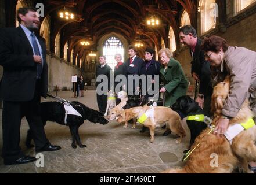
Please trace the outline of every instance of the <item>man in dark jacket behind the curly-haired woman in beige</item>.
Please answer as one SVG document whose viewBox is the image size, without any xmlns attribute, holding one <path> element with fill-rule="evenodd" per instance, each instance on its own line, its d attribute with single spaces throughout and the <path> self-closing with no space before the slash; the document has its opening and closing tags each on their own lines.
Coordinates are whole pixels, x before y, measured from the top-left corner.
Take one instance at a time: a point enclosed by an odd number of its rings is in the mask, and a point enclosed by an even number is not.
<svg viewBox="0 0 256 185">
<path fill-rule="evenodd" d="M 210 62 L 205 61 L 204 51 L 200 49 L 202 41 L 197 38 L 196 29 L 191 25 L 185 25 L 179 29 L 179 40 L 190 48 L 192 57 L 191 73 L 194 80 L 200 81 L 199 94 L 195 97 L 196 102 L 209 116 L 212 94 L 211 69 Z"/>
</svg>

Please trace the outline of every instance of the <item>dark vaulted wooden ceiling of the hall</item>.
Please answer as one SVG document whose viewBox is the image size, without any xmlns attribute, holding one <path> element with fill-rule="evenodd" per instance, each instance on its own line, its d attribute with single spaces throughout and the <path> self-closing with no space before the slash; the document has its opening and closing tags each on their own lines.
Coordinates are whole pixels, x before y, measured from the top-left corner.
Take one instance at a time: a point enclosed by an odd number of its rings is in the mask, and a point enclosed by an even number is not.
<svg viewBox="0 0 256 185">
<path fill-rule="evenodd" d="M 26 1 L 26 0 L 21 0 Z M 16 0 L 17 2 L 17 0 Z M 110 32 L 121 34 L 131 44 L 141 40 L 146 46 L 156 46 L 160 49 L 161 38 L 168 47 L 168 32 L 170 26 L 174 29 L 176 40 L 180 18 L 183 10 L 189 14 L 190 21 L 196 27 L 196 0 L 27 0 L 31 4 L 43 3 L 45 16 L 51 17 L 51 46 L 55 51 L 55 38 L 60 32 L 61 52 L 68 42 L 69 53 L 74 49 L 75 54 L 86 56 L 91 50 L 96 51 L 98 41 Z M 10 5 L 12 3 L 10 2 Z M 74 20 L 61 20 L 59 11 L 63 8 L 75 14 Z M 161 25 L 151 28 L 146 25 L 146 18 L 154 14 L 161 20 Z M 89 47 L 82 47 L 81 39 L 89 40 Z M 81 58 L 80 57 L 80 58 Z"/>
</svg>

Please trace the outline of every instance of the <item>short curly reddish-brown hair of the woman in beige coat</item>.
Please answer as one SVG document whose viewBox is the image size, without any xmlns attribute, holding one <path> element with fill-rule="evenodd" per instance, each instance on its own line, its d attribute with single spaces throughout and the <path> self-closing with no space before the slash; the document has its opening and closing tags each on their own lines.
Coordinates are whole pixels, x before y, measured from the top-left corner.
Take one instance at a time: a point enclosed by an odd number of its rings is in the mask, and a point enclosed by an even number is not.
<svg viewBox="0 0 256 185">
<path fill-rule="evenodd" d="M 204 38 L 203 43 L 201 44 L 201 49 L 204 52 L 213 51 L 217 53 L 219 50 L 226 52 L 228 50 L 228 43 L 225 39 L 220 36 L 210 36 L 209 38 Z"/>
</svg>

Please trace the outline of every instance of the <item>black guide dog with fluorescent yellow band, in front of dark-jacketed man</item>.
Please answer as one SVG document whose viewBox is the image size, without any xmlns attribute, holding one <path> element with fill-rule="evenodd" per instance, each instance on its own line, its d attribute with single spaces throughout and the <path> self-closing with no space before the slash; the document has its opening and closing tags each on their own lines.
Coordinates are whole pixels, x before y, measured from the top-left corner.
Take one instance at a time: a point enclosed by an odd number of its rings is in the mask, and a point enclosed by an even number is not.
<svg viewBox="0 0 256 185">
<path fill-rule="evenodd" d="M 195 102 L 188 95 L 179 97 L 176 103 L 171 106 L 171 109 L 178 112 L 179 116 L 181 116 L 181 119 L 187 116 L 204 114 L 204 111 L 200 108 L 198 103 Z M 196 137 L 201 133 L 201 131 L 207 128 L 207 124 L 201 121 L 186 120 L 186 123 L 188 124 L 190 130 L 190 143 L 189 148 L 187 150 L 184 150 L 183 153 L 187 153 L 190 150 L 190 147 L 193 145 Z"/>
</svg>

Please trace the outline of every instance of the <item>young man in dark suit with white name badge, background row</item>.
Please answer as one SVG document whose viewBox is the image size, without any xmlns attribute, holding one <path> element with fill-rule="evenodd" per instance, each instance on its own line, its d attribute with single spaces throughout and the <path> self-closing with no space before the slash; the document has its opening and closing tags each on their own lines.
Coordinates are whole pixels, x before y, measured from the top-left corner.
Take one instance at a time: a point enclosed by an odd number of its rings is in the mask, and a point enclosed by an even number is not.
<svg viewBox="0 0 256 185">
<path fill-rule="evenodd" d="M 138 92 L 139 87 L 135 87 L 135 80 L 133 80 L 134 86 L 129 87 L 129 82 L 131 83 L 133 75 L 140 75 L 140 70 L 143 64 L 142 58 L 136 56 L 137 50 L 134 46 L 128 47 L 129 58 L 125 61 L 125 76 L 127 77 L 127 92 L 128 95 L 135 94 Z"/>
</svg>

